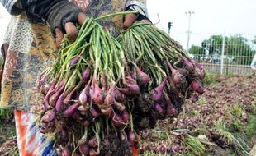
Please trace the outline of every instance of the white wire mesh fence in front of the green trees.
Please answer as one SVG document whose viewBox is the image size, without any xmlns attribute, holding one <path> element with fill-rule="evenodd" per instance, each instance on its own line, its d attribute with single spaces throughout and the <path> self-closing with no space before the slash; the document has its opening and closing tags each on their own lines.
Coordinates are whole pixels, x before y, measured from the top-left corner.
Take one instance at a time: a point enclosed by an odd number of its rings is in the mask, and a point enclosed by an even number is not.
<svg viewBox="0 0 256 156">
<path fill-rule="evenodd" d="M 193 39 L 197 35 L 192 34 Z M 250 74 L 252 59 L 256 54 L 256 35 L 210 34 L 201 43 L 191 42 L 188 53 L 200 62 L 206 71 L 217 74 Z"/>
</svg>

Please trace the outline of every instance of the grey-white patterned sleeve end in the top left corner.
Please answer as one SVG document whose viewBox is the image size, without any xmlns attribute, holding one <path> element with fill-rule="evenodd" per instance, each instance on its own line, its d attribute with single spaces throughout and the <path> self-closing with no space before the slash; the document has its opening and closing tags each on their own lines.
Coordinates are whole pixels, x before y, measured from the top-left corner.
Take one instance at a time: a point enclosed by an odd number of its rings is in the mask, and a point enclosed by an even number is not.
<svg viewBox="0 0 256 156">
<path fill-rule="evenodd" d="M 22 5 L 20 0 L 0 0 L 0 2 L 11 15 L 21 14 Z"/>
</svg>

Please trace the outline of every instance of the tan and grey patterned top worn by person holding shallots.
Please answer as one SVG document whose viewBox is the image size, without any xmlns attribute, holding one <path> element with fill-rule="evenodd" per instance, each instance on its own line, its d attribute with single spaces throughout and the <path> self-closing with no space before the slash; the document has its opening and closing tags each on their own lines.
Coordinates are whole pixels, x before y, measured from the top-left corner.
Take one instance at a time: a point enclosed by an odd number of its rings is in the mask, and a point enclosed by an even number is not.
<svg viewBox="0 0 256 156">
<path fill-rule="evenodd" d="M 36 2 L 39 0 L 28 0 Z M 45 0 L 48 1 L 48 0 Z M 146 0 L 71 0 L 85 11 L 87 16 L 97 17 L 107 13 L 125 11 L 137 5 L 145 11 Z M 56 50 L 50 26 L 40 18 L 22 11 L 20 0 L 0 0 L 12 15 L 1 51 L 4 64 L 0 72 L 0 108 L 12 108 L 27 112 L 40 112 L 42 97 L 36 89 L 40 71 L 50 65 Z M 26 2 L 26 1 L 25 1 Z M 111 34 L 119 34 L 123 16 L 101 21 Z"/>
</svg>

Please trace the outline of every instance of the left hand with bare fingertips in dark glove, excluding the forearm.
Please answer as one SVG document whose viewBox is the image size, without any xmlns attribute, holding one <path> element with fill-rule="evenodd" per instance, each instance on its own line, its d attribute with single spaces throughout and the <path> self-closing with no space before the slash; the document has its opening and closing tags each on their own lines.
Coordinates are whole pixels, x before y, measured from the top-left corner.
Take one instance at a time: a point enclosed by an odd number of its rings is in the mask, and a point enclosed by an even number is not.
<svg viewBox="0 0 256 156">
<path fill-rule="evenodd" d="M 42 9 L 42 13 L 39 16 L 42 16 L 50 25 L 50 30 L 56 37 L 56 46 L 59 48 L 64 34 L 68 34 L 71 41 L 77 38 L 78 30 L 76 25 L 83 25 L 86 16 L 72 2 L 66 0 L 48 1 L 45 1 L 44 4 L 38 4 L 37 9 L 40 10 L 41 6 L 50 5 L 50 7 Z"/>
</svg>

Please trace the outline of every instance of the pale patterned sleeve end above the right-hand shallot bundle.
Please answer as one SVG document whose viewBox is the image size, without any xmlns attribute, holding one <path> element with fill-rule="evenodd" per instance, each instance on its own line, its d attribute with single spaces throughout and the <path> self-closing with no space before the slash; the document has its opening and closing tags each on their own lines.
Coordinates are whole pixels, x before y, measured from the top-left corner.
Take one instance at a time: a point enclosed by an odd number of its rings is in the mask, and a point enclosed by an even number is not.
<svg viewBox="0 0 256 156">
<path fill-rule="evenodd" d="M 126 8 L 129 7 L 131 10 L 139 11 L 141 15 L 149 17 L 146 2 L 146 0 L 126 0 Z"/>
</svg>

